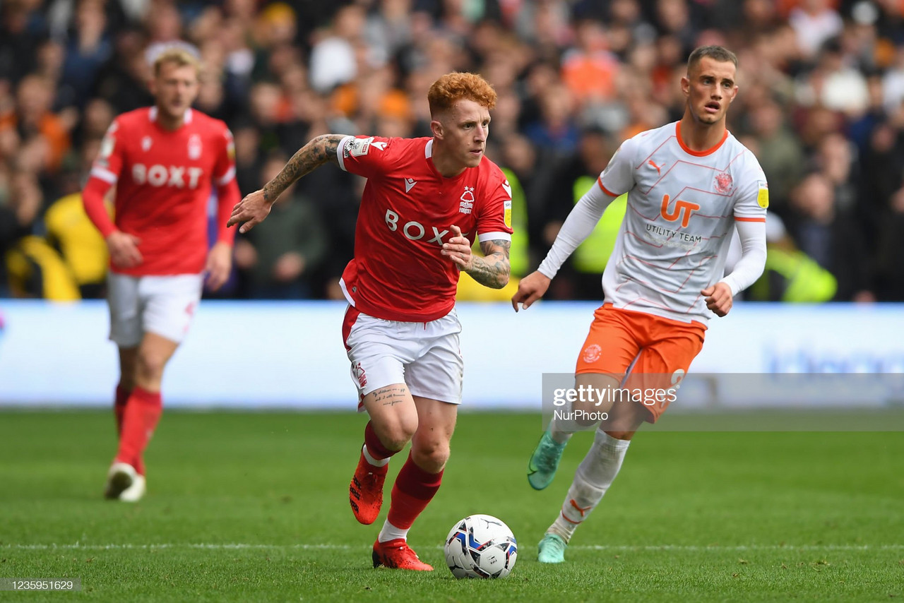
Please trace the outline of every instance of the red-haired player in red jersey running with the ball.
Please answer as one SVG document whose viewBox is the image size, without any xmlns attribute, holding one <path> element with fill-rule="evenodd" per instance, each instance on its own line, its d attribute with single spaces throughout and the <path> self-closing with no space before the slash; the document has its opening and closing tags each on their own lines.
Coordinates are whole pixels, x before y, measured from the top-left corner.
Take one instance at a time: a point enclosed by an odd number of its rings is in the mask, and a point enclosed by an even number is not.
<svg viewBox="0 0 904 603">
<path fill-rule="evenodd" d="M 439 488 L 461 401 L 458 275 L 486 287 L 508 283 L 512 193 L 484 156 L 495 100 L 481 77 L 447 74 L 428 91 L 433 137 L 316 137 L 229 221 L 253 228 L 289 184 L 327 162 L 367 178 L 341 282 L 345 349 L 371 417 L 349 485 L 359 522 L 376 520 L 390 457 L 411 441 L 373 544 L 374 567 L 433 569 L 406 541 Z M 471 254 L 475 236 L 484 257 Z"/>
</svg>

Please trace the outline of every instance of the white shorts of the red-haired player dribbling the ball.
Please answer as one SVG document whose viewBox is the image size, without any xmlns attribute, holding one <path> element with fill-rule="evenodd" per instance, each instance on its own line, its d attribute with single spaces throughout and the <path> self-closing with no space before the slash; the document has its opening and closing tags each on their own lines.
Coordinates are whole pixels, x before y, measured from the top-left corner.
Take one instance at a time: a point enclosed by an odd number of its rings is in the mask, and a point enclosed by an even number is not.
<svg viewBox="0 0 904 603">
<path fill-rule="evenodd" d="M 343 339 L 360 398 L 405 383 L 412 396 L 460 404 L 465 361 L 459 333 L 454 308 L 428 323 L 408 323 L 368 316 L 349 306 Z M 363 410 L 361 405 L 358 410 Z"/>
</svg>

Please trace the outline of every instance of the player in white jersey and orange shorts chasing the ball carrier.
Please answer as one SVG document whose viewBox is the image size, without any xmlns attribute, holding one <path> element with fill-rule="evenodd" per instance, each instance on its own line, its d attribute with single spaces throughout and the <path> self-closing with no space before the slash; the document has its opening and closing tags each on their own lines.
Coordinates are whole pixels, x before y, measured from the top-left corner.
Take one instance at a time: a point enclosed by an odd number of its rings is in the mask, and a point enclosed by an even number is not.
<svg viewBox="0 0 904 603">
<path fill-rule="evenodd" d="M 583 410 L 608 411 L 575 472 L 560 513 L 540 542 L 541 562 L 564 561 L 578 525 L 615 479 L 628 444 L 644 421 L 655 422 L 667 392 L 700 353 L 711 313 L 725 316 L 766 262 L 766 176 L 756 157 L 725 127 L 738 93 L 738 59 L 720 46 L 692 52 L 682 78 L 681 121 L 626 140 L 594 186 L 570 212 L 540 268 L 523 278 L 515 311 L 539 299 L 572 251 L 619 194 L 627 212 L 603 272 L 605 301 L 580 351 L 575 384 L 597 391 L 659 390 L 649 398 L 598 396 Z M 721 278 L 731 231 L 741 258 Z M 590 400 L 589 400 L 590 401 Z M 537 490 L 549 485 L 578 424 L 553 419 L 528 465 Z"/>
</svg>

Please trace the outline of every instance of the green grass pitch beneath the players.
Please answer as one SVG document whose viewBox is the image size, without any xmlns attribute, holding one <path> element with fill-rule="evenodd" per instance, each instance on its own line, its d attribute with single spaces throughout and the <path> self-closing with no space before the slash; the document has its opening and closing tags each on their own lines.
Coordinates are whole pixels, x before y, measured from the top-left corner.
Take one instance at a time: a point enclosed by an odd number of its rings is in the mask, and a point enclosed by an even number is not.
<svg viewBox="0 0 904 603">
<path fill-rule="evenodd" d="M 543 492 L 527 484 L 537 415 L 462 414 L 443 486 L 410 533 L 433 572 L 373 570 L 385 518 L 356 523 L 353 413 L 166 412 L 139 504 L 101 498 L 111 414 L 0 413 L 0 578 L 80 578 L 80 593 L 0 600 L 887 601 L 904 597 L 900 432 L 642 431 L 568 562 L 536 545 L 590 434 Z M 402 455 L 402 457 L 404 454 Z M 401 466 L 392 462 L 391 477 Z M 389 497 L 389 487 L 386 491 Z M 457 580 L 452 524 L 512 528 L 503 580 Z"/>
</svg>

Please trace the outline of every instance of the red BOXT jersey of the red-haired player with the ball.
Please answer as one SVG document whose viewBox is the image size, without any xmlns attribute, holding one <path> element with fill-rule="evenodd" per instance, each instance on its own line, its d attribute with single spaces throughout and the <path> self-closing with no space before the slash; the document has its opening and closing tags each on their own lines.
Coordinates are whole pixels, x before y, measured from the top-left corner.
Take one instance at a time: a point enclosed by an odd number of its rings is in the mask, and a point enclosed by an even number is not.
<svg viewBox="0 0 904 603">
<path fill-rule="evenodd" d="M 427 322 L 455 306 L 458 268 L 442 255 L 451 226 L 473 241 L 512 240 L 512 192 L 503 171 L 480 165 L 445 178 L 432 138 L 344 137 L 345 171 L 367 178 L 354 259 L 340 285 L 352 306 L 384 320 Z"/>
</svg>

